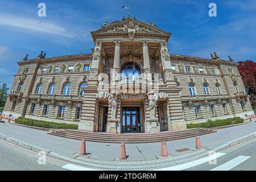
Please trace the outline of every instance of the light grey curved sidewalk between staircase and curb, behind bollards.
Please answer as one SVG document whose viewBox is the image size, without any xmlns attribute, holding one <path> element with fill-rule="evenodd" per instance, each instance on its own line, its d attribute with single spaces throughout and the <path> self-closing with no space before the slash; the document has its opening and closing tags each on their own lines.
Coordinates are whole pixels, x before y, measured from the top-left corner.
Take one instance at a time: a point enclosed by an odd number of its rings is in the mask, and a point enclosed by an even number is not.
<svg viewBox="0 0 256 182">
<path fill-rule="evenodd" d="M 204 150 L 197 153 L 212 150 L 222 144 L 243 137 L 256 131 L 256 123 L 251 122 L 246 125 L 229 127 L 218 130 L 217 133 L 200 136 Z M 36 146 L 47 148 L 52 152 L 66 156 L 72 159 L 86 160 L 79 156 L 79 140 L 67 139 L 48 135 L 46 131 L 30 129 L 27 127 L 11 125 L 9 123 L 0 123 L 0 134 L 13 137 L 23 142 L 27 142 Z M 86 158 L 92 161 L 106 160 L 117 161 L 119 155 L 120 144 L 94 143 L 86 142 Z M 168 152 L 170 156 L 178 158 L 179 156 L 188 156 L 195 153 L 195 138 L 187 138 L 181 140 L 173 140 L 167 142 Z M 186 148 L 187 151 L 177 152 Z M 126 161 L 144 161 L 160 159 L 160 143 L 142 143 L 142 144 L 126 144 L 126 154 L 129 158 Z"/>
</svg>

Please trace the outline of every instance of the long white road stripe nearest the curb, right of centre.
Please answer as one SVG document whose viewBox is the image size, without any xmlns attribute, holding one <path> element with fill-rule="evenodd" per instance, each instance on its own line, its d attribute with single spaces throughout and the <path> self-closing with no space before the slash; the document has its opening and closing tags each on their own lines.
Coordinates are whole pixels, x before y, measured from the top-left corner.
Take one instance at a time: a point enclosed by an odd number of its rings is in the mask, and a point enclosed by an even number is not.
<svg viewBox="0 0 256 182">
<path fill-rule="evenodd" d="M 188 162 L 188 163 L 184 163 L 184 164 L 179 164 L 177 166 L 171 166 L 171 167 L 156 169 L 155 171 L 181 171 L 181 170 L 184 170 L 184 169 L 188 169 L 188 168 L 191 168 L 191 167 L 198 166 L 200 164 L 204 164 L 204 163 L 210 162 L 210 161 L 212 161 L 214 159 L 217 159 L 217 158 L 220 158 L 221 156 L 224 156 L 224 155 L 226 155 L 226 154 L 225 153 L 221 153 L 221 152 L 217 152 L 214 155 L 209 155 L 209 156 L 207 156 L 205 158 L 197 159 L 197 160 L 194 160 L 192 162 Z"/>
</svg>

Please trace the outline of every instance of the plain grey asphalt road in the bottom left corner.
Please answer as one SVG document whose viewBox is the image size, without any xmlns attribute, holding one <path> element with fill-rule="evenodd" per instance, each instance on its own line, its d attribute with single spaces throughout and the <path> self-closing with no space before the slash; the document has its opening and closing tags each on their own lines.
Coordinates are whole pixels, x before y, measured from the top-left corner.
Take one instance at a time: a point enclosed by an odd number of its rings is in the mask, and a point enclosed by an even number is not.
<svg viewBox="0 0 256 182">
<path fill-rule="evenodd" d="M 0 139 L 0 170 L 1 171 L 60 171 L 67 163 L 46 158 L 46 164 L 39 165 L 38 156 Z"/>
</svg>

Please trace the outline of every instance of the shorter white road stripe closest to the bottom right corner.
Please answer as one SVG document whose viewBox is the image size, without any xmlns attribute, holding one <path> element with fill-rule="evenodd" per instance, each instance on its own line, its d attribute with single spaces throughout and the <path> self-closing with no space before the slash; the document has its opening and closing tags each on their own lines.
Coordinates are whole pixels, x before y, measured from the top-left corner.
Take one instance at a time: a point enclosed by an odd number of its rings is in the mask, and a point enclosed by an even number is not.
<svg viewBox="0 0 256 182">
<path fill-rule="evenodd" d="M 229 160 L 229 162 L 226 162 L 216 168 L 211 169 L 210 171 L 229 171 L 230 169 L 233 169 L 234 167 L 238 166 L 239 164 L 245 162 L 249 158 L 251 158 L 251 157 L 240 155 L 232 160 Z"/>
</svg>

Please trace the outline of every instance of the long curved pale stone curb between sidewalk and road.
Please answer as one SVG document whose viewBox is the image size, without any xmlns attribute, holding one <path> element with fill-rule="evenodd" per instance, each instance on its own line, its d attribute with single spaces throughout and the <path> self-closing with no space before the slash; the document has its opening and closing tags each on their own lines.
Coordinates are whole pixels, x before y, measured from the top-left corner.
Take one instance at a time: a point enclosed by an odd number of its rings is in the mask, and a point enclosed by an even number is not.
<svg viewBox="0 0 256 182">
<path fill-rule="evenodd" d="M 229 142 L 226 142 L 225 144 L 223 144 L 222 146 L 219 146 L 219 147 L 216 147 L 213 149 L 213 151 L 215 152 L 218 152 L 218 151 L 221 151 L 221 150 L 224 150 L 226 148 L 229 148 L 229 147 L 232 147 L 232 146 L 235 146 L 236 144 L 240 144 L 240 143 L 243 143 L 243 142 L 246 142 L 247 140 L 250 140 L 250 139 L 253 139 L 253 138 L 256 138 L 256 132 L 255 133 L 251 133 L 249 135 L 245 135 L 241 138 L 237 138 L 237 139 L 234 139 L 234 140 L 231 140 Z M 129 164 L 129 162 L 122 162 L 122 164 L 124 164 L 122 166 L 118 166 L 118 165 L 114 165 L 114 164 L 106 164 L 104 163 L 105 161 L 101 161 L 101 163 L 97 163 L 98 160 L 95 160 L 94 162 L 91 161 L 91 162 L 83 162 L 83 161 L 80 161 L 80 160 L 76 160 L 76 159 L 72 159 L 72 158 L 68 158 L 68 157 L 65 157 L 63 155 L 60 155 L 60 154 L 56 154 L 55 152 L 52 152 L 51 150 L 48 150 L 47 148 L 43 148 L 43 147 L 39 147 L 39 146 L 35 146 L 35 145 L 32 145 L 30 143 L 27 143 L 27 142 L 23 142 L 21 140 L 18 140 L 18 139 L 15 139 L 15 138 L 12 138 L 12 137 L 8 137 L 7 135 L 3 135 L 0 133 L 0 139 L 2 140 L 5 140 L 6 142 L 9 142 L 9 143 L 12 143 L 12 144 L 15 144 L 16 146 L 19 146 L 19 147 L 22 147 L 26 150 L 30 150 L 30 151 L 33 151 L 33 152 L 40 152 L 40 151 L 44 151 L 46 152 L 46 155 L 50 158 L 53 158 L 53 159 L 57 159 L 57 160 L 62 160 L 64 162 L 69 162 L 69 163 L 73 163 L 73 164 L 80 164 L 82 166 L 85 166 L 85 167 L 89 167 L 89 168 L 93 168 L 93 169 L 104 169 L 104 170 L 129 170 L 129 166 L 126 166 L 127 164 Z M 203 154 L 198 154 L 196 156 L 192 156 L 191 158 L 185 158 L 185 159 L 177 159 L 175 160 L 174 162 L 168 162 L 169 166 L 170 164 L 181 164 L 181 163 L 185 163 L 185 162 L 189 162 L 191 160 L 196 160 L 196 159 L 199 159 L 199 158 L 202 158 L 204 156 L 208 155 L 208 152 L 204 152 Z M 168 158 L 164 158 L 163 159 L 163 162 L 164 161 L 167 161 Z M 160 163 L 160 161 L 158 161 L 158 163 L 151 163 L 150 161 L 145 161 L 146 163 L 142 163 L 140 162 L 140 164 L 144 164 L 144 165 L 141 165 L 143 166 L 138 168 L 138 166 L 136 165 L 132 165 L 130 164 L 133 168 L 137 168 L 137 169 L 140 169 L 140 170 L 150 170 L 152 168 L 163 168 L 164 166 L 166 166 L 166 163 Z M 121 164 L 119 161 L 117 161 L 117 164 Z M 126 164 L 126 165 L 125 165 Z M 167 167 L 167 166 L 166 166 Z M 100 168 L 100 169 L 99 169 Z"/>
</svg>

